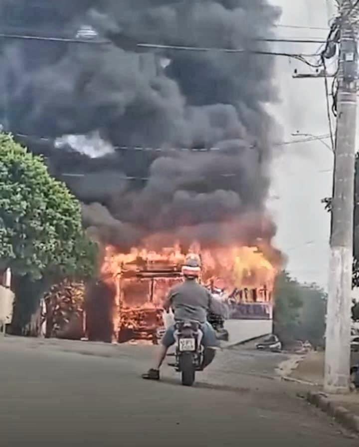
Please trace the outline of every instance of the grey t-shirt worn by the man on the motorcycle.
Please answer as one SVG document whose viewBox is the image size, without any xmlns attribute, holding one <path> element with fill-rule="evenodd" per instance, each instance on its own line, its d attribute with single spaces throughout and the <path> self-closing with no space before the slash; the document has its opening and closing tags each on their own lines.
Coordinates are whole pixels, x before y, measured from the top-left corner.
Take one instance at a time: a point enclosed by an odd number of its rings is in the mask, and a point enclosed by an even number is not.
<svg viewBox="0 0 359 447">
<path fill-rule="evenodd" d="M 222 309 L 211 293 L 196 280 L 186 279 L 182 284 L 176 285 L 169 292 L 168 297 L 174 310 L 175 320 L 194 320 L 204 323 L 207 312 L 222 314 Z"/>
</svg>

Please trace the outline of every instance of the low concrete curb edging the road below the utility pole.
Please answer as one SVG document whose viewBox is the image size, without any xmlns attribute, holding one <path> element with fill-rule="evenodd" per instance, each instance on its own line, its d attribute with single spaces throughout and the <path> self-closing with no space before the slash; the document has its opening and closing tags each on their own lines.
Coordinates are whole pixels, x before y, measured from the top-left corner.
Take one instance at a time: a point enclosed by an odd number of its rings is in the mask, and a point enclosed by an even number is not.
<svg viewBox="0 0 359 447">
<path fill-rule="evenodd" d="M 324 393 L 309 391 L 307 393 L 307 401 L 336 419 L 347 429 L 359 433 L 359 416 L 356 416 L 346 408 L 335 404 Z"/>
</svg>

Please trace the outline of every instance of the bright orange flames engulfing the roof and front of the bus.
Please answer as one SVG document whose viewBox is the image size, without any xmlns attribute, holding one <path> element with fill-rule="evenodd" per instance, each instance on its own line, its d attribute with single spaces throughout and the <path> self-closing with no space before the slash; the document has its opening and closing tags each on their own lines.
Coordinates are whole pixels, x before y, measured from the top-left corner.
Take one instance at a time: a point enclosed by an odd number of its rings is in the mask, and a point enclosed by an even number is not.
<svg viewBox="0 0 359 447">
<path fill-rule="evenodd" d="M 228 294 L 235 289 L 244 290 L 246 300 L 249 301 L 253 300 L 253 296 L 251 298 L 248 295 L 248 289 L 260 292 L 256 293 L 258 301 L 270 299 L 275 278 L 280 270 L 280 262 L 270 261 L 270 258 L 276 257 L 273 255 L 275 250 L 268 244 L 262 243 L 261 246 L 254 247 L 230 246 L 201 249 L 199 244 L 193 243 L 186 253 L 180 249 L 179 244 L 160 251 L 134 247 L 129 253 L 121 253 L 115 247 L 107 246 L 101 275 L 103 280 L 114 286 L 116 290 L 113 319 L 115 333 L 118 333 L 124 325 L 132 328 L 139 324 L 135 322 L 134 315 L 150 313 L 156 308 L 160 309 L 168 289 L 174 282 L 180 280 L 168 277 L 157 279 L 157 285 L 152 290 L 153 301 L 148 302 L 149 281 L 142 280 L 141 283 L 141 280 L 133 275 L 126 276 L 125 284 L 122 280 L 124 275 L 131 271 L 136 273 L 141 268 L 151 270 L 159 266 L 180 271 L 189 253 L 200 256 L 201 281 L 204 284 L 224 289 Z M 261 293 L 264 290 L 266 292 Z"/>
</svg>

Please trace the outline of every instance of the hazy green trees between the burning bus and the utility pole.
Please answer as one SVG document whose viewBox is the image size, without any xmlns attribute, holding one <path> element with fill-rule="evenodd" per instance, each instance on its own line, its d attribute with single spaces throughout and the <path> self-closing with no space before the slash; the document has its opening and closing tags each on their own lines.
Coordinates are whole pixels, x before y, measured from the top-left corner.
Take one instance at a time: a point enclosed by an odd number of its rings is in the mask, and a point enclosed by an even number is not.
<svg viewBox="0 0 359 447">
<path fill-rule="evenodd" d="M 315 284 L 303 285 L 287 272 L 275 289 L 274 331 L 284 343 L 309 340 L 318 345 L 325 332 L 326 294 Z"/>
</svg>

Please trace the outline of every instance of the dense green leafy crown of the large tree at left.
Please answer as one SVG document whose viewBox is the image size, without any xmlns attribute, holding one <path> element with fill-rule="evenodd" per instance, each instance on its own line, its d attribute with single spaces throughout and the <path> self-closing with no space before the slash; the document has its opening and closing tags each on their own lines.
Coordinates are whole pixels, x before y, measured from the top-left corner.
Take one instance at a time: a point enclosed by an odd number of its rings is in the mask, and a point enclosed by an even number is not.
<svg viewBox="0 0 359 447">
<path fill-rule="evenodd" d="M 0 134 L 0 193 L 0 268 L 31 280 L 93 274 L 97 247 L 79 202 L 8 134 Z"/>
</svg>

